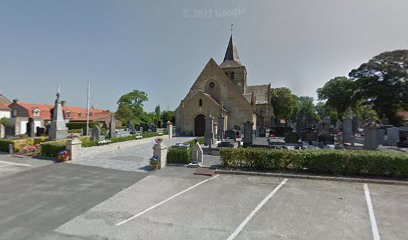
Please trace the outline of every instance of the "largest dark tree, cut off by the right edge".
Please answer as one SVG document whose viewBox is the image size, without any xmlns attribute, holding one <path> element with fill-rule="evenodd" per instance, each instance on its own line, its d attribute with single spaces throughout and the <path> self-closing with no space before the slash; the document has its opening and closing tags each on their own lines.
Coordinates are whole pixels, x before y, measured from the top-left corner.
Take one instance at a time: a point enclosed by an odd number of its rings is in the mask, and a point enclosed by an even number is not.
<svg viewBox="0 0 408 240">
<path fill-rule="evenodd" d="M 397 113 L 408 109 L 408 50 L 381 53 L 349 74 L 356 94 L 372 103 L 378 115 L 397 124 Z"/>
</svg>

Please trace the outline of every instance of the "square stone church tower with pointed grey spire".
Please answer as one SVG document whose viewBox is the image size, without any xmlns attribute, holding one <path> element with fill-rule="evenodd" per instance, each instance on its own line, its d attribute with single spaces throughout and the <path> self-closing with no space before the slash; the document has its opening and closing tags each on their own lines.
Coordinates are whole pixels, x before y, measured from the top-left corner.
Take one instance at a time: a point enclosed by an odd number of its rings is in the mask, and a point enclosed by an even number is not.
<svg viewBox="0 0 408 240">
<path fill-rule="evenodd" d="M 240 93 L 245 94 L 247 89 L 247 71 L 239 60 L 237 46 L 232 37 L 232 32 L 227 51 L 225 52 L 224 61 L 220 64 L 220 67 L 235 86 L 237 86 Z"/>
</svg>

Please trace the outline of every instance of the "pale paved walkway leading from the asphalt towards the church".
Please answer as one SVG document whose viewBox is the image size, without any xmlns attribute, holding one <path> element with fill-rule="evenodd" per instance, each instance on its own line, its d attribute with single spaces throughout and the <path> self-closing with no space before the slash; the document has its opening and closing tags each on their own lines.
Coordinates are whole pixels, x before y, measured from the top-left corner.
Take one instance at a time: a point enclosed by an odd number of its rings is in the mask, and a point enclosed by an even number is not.
<svg viewBox="0 0 408 240">
<path fill-rule="evenodd" d="M 164 140 L 163 144 L 171 146 L 183 143 L 194 137 L 175 137 Z M 146 172 L 151 171 L 149 159 L 153 156 L 153 139 L 151 143 L 144 143 L 132 148 L 118 149 L 109 153 L 102 153 L 72 161 L 73 164 L 103 167 L 124 171 Z"/>
</svg>

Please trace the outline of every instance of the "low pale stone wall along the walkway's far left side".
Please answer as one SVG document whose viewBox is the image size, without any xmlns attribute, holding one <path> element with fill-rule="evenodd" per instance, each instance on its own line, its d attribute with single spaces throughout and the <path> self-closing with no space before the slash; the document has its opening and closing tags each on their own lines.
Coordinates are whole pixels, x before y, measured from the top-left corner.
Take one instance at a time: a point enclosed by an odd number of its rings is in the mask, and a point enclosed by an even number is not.
<svg viewBox="0 0 408 240">
<path fill-rule="evenodd" d="M 163 137 L 164 139 L 167 139 L 168 135 L 164 135 L 161 137 Z M 88 148 L 81 147 L 81 148 L 76 149 L 76 152 L 72 154 L 72 160 L 75 161 L 76 159 L 79 159 L 79 158 L 89 157 L 89 156 L 101 154 L 101 153 L 112 152 L 115 150 L 134 147 L 134 146 L 145 144 L 145 143 L 152 143 L 152 147 L 153 147 L 154 138 L 156 137 L 142 138 L 142 139 L 131 140 L 131 141 L 126 141 L 126 142 L 111 143 L 111 144 L 100 145 L 100 146 L 95 146 L 95 147 L 88 147 Z"/>
</svg>

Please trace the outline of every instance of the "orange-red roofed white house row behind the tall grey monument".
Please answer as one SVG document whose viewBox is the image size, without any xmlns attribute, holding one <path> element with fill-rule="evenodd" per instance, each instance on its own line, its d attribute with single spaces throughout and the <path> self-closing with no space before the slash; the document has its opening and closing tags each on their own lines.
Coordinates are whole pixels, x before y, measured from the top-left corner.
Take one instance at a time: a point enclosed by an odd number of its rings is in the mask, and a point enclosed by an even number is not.
<svg viewBox="0 0 408 240">
<path fill-rule="evenodd" d="M 14 99 L 8 107 L 11 111 L 15 135 L 26 134 L 29 118 L 34 121 L 34 132 L 37 132 L 37 127 L 45 127 L 52 121 L 54 105 L 27 103 Z M 66 122 L 86 122 L 87 120 L 86 108 L 67 106 L 66 102 L 63 101 L 62 111 Z M 109 126 L 110 116 L 109 110 L 91 108 L 89 111 L 91 122 L 105 123 L 106 126 Z"/>
</svg>

